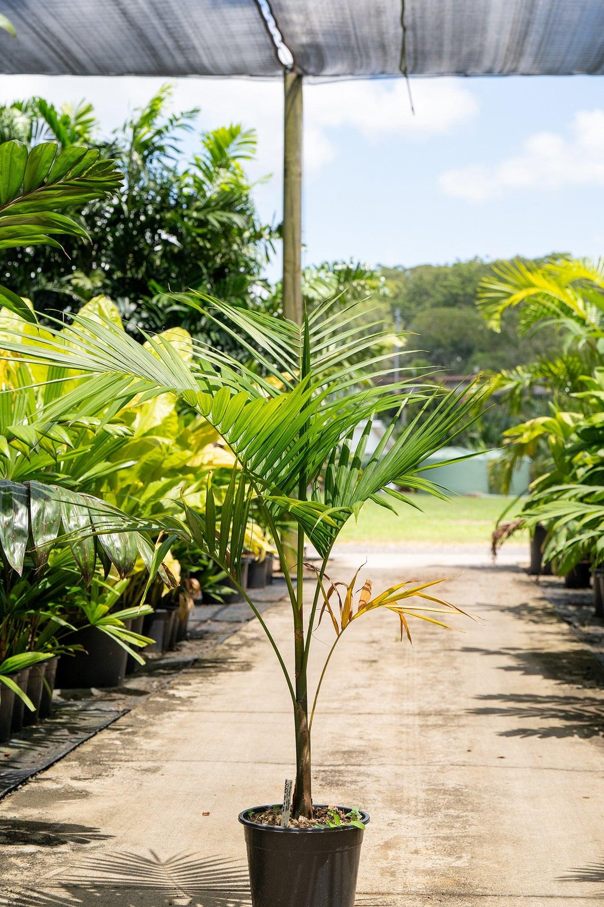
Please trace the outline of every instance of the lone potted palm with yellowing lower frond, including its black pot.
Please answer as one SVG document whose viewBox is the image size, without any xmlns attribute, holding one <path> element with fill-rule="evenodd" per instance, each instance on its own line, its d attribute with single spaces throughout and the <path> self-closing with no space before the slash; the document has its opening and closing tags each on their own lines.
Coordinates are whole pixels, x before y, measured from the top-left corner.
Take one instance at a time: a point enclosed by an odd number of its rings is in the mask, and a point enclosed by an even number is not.
<svg viewBox="0 0 604 907">
<path fill-rule="evenodd" d="M 254 907 L 351 907 L 369 816 L 346 806 L 328 809 L 312 799 L 312 719 L 331 655 L 350 625 L 374 610 L 396 615 L 401 639 L 410 639 L 409 619 L 446 626 L 447 614 L 463 612 L 433 594 L 435 582 L 401 582 L 376 595 L 369 580 L 356 590 L 359 571 L 349 582 L 331 581 L 328 561 L 343 525 L 365 502 L 396 511 L 396 504 L 411 503 L 400 488 L 444 496 L 422 463 L 472 421 L 476 396 L 463 398 L 417 379 L 398 380 L 390 374 L 390 338 L 378 323 L 368 324 L 358 309 L 338 300 L 307 313 L 302 327 L 197 293 L 178 295 L 177 301 L 197 307 L 236 335 L 250 366 L 199 341 L 190 359 L 178 356 L 161 337 L 148 337 L 143 347 L 109 320 L 87 317 L 76 318 L 61 336 L 57 325 L 49 332 L 54 338 L 43 344 L 20 336 L 5 346 L 32 362 L 89 373 L 45 408 L 41 418 L 46 423 L 91 399 L 95 405 L 116 406 L 116 398 L 127 405 L 137 394 L 149 399 L 170 392 L 197 409 L 233 453 L 235 465 L 219 496 L 210 475 L 203 507 L 193 509 L 183 500 L 182 519 L 158 522 L 195 544 L 232 580 L 264 629 L 292 700 L 291 813 L 277 804 L 247 808 L 239 816 Z M 405 424 L 399 415 L 418 400 L 424 405 Z M 379 416 L 386 420 L 386 431 L 366 456 Z M 293 523 L 297 529 L 296 564 L 292 575 L 284 574 L 292 611 L 292 664 L 242 582 L 250 512 L 262 514 L 282 563 L 287 559 L 279 527 Z M 309 595 L 303 562 L 307 541 L 321 559 L 313 568 Z M 319 688 L 311 691 L 312 629 L 321 616 L 331 621 L 334 639 Z"/>
</svg>

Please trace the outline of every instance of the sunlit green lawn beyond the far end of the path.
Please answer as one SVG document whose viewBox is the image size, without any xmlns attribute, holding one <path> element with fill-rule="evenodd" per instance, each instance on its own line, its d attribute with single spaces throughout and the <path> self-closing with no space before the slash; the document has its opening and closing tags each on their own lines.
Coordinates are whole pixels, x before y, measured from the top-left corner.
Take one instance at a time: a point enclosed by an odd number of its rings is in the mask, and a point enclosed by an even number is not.
<svg viewBox="0 0 604 907">
<path fill-rule="evenodd" d="M 348 544 L 398 545 L 488 543 L 494 524 L 503 509 L 513 500 L 504 497 L 454 497 L 439 501 L 428 494 L 410 494 L 421 507 L 419 512 L 407 504 L 395 502 L 398 515 L 384 510 L 369 501 L 360 512 L 359 522 L 351 518 L 340 535 Z M 393 500 L 393 499 L 389 499 Z M 510 511 L 505 520 L 511 520 L 522 501 Z M 513 541 L 523 541 L 523 533 L 516 533 Z"/>
</svg>

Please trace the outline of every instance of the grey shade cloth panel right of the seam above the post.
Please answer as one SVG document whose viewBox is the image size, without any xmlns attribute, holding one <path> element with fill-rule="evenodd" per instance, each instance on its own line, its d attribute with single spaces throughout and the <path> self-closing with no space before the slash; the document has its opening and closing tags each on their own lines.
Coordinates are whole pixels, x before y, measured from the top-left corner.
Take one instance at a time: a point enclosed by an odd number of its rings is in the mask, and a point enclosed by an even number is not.
<svg viewBox="0 0 604 907">
<path fill-rule="evenodd" d="M 602 0 L 272 0 L 303 73 L 604 71 Z"/>
</svg>

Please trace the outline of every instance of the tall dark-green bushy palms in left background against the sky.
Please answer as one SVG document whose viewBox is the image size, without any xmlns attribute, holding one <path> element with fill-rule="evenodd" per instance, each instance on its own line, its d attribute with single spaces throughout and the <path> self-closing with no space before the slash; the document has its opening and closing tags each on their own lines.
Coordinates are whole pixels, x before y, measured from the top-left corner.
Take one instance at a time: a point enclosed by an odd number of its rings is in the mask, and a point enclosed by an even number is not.
<svg viewBox="0 0 604 907">
<path fill-rule="evenodd" d="M 259 219 L 244 172 L 255 135 L 226 126 L 202 133 L 197 150 L 184 154 L 198 110 L 169 112 L 170 98 L 169 86 L 162 88 L 107 141 L 100 141 L 99 122 L 85 102 L 59 110 L 36 97 L 0 107 L 5 140 L 30 148 L 49 139 L 62 149 L 94 144 L 124 174 L 113 197 L 81 212 L 90 244 L 67 238 L 69 258 L 48 248 L 2 250 L 0 270 L 43 316 L 77 311 L 102 293 L 130 326 L 179 325 L 236 348 L 219 326 L 178 306 L 168 293 L 194 288 L 241 306 L 253 306 L 264 294 L 262 271 L 274 230 Z"/>
</svg>

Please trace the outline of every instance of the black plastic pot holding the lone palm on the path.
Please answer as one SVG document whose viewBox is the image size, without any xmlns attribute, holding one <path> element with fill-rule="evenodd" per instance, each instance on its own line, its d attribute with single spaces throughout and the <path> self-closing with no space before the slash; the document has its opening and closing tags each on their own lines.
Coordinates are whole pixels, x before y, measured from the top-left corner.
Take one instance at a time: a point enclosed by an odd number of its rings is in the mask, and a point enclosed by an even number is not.
<svg viewBox="0 0 604 907">
<path fill-rule="evenodd" d="M 280 828 L 248 818 L 267 808 L 256 806 L 239 814 L 253 907 L 353 907 L 362 829 L 356 825 Z M 369 815 L 360 815 L 363 824 L 368 824 Z"/>
</svg>

